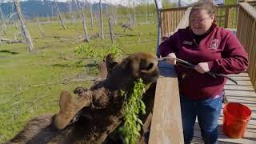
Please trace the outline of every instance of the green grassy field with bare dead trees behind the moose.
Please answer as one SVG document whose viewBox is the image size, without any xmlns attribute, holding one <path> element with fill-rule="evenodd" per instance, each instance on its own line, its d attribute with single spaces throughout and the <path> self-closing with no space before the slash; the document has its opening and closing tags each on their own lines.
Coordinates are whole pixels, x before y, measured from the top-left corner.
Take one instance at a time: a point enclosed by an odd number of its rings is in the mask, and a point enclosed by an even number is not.
<svg viewBox="0 0 256 144">
<path fill-rule="evenodd" d="M 139 25 L 126 32 L 120 25 L 122 21 L 119 21 L 119 25 L 114 26 L 118 37 L 115 44 L 128 54 L 136 51 L 154 53 L 157 40 L 155 18 L 152 17 L 150 23 L 143 23 L 144 21 L 143 18 L 138 18 Z M 46 34 L 44 38 L 39 34 L 37 23 L 28 23 L 27 27 L 34 41 L 34 52 L 30 53 L 26 44 L 0 45 L 0 142 L 17 134 L 28 119 L 39 114 L 56 113 L 61 90 L 72 91 L 77 86 L 88 87 L 92 82 L 88 78 L 98 74 L 95 65 L 87 65 L 89 62 L 77 63 L 78 56 L 74 50 L 79 45 L 86 44 L 76 40 L 83 34 L 80 23 L 66 23 L 67 30 L 62 30 L 58 22 L 42 24 L 42 30 Z M 104 26 L 104 30 L 104 40 L 90 40 L 90 46 L 94 50 L 106 49 L 112 45 L 109 27 Z M 7 34 L 2 34 L 3 38 L 14 38 L 19 29 L 10 25 L 6 32 Z M 96 32 L 96 29 L 90 29 L 90 34 Z"/>
</svg>

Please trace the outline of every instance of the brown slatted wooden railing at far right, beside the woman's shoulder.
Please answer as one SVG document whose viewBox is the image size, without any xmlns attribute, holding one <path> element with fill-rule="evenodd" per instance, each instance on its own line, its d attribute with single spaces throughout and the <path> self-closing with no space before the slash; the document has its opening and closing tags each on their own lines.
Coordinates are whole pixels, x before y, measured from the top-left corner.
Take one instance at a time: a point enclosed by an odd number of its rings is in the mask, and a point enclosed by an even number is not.
<svg viewBox="0 0 256 144">
<path fill-rule="evenodd" d="M 248 53 L 247 71 L 256 90 L 256 9 L 247 2 L 239 4 L 237 37 Z"/>
</svg>

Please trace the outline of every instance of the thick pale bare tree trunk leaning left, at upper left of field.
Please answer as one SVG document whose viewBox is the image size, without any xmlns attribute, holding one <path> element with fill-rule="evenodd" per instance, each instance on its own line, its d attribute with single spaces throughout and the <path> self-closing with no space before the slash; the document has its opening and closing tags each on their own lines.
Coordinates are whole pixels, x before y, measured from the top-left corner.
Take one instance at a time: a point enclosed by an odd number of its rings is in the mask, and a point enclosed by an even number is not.
<svg viewBox="0 0 256 144">
<path fill-rule="evenodd" d="M 19 0 L 14 0 L 14 5 L 15 5 L 15 8 L 16 8 L 16 12 L 18 14 L 18 18 L 20 20 L 20 24 L 21 24 L 21 27 L 22 27 L 22 32 L 23 32 L 23 34 L 26 38 L 26 42 L 29 46 L 29 50 L 33 51 L 34 50 L 34 45 L 33 45 L 32 39 L 30 38 L 29 31 L 26 29 L 25 21 L 23 20 L 23 17 L 22 17 L 22 10 L 19 7 Z"/>
</svg>

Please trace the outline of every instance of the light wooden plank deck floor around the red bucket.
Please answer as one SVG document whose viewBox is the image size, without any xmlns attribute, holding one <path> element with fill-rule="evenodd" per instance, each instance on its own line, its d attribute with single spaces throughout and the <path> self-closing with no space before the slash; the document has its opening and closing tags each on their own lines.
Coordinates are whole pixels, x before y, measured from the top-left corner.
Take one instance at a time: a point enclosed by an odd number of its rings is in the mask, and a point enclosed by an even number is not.
<svg viewBox="0 0 256 144">
<path fill-rule="evenodd" d="M 243 143 L 243 144 L 256 144 L 256 94 L 255 90 L 250 82 L 250 78 L 247 73 L 231 74 L 231 78 L 234 78 L 238 82 L 238 86 L 233 82 L 228 81 L 225 86 L 225 93 L 229 102 L 240 102 L 246 105 L 252 110 L 250 122 L 247 126 L 244 138 L 229 138 L 222 132 L 223 123 L 223 106 L 222 114 L 218 119 L 218 143 Z M 200 128 L 198 123 L 194 126 L 194 138 L 192 143 L 203 143 Z"/>
</svg>

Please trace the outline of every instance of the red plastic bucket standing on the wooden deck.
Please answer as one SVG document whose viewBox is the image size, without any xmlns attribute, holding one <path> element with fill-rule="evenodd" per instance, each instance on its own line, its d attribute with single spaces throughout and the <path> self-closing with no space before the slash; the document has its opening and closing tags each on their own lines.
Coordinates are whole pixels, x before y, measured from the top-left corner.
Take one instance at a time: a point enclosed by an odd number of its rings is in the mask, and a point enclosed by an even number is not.
<svg viewBox="0 0 256 144">
<path fill-rule="evenodd" d="M 242 138 L 250 120 L 251 110 L 240 103 L 230 102 L 224 106 L 223 132 L 230 138 Z"/>
</svg>

